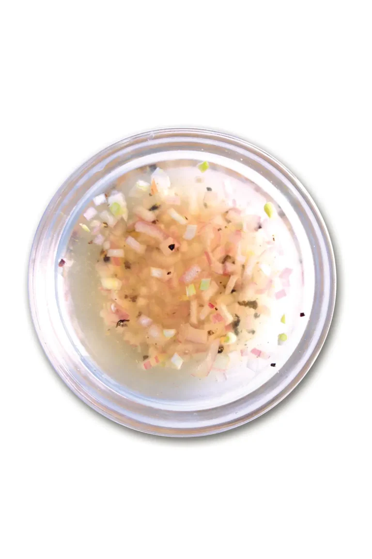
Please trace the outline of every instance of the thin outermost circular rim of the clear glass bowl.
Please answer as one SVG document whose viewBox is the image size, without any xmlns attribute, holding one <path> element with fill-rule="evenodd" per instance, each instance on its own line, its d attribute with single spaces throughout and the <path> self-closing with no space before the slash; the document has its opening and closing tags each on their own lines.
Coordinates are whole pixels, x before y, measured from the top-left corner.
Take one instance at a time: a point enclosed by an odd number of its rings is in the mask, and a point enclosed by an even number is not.
<svg viewBox="0 0 372 559">
<path fill-rule="evenodd" d="M 296 188 L 299 195 L 301 195 L 301 197 L 305 200 L 307 205 L 310 207 L 312 215 L 315 217 L 317 221 L 317 225 L 320 228 L 322 240 L 326 245 L 327 255 L 329 257 L 328 264 L 330 266 L 330 295 L 328 299 L 327 313 L 323 324 L 323 328 L 321 330 L 320 337 L 317 340 L 317 344 L 311 353 L 311 356 L 307 359 L 306 363 L 299 370 L 296 377 L 294 377 L 293 380 L 289 382 L 287 385 L 283 386 L 282 390 L 279 391 L 276 396 L 274 396 L 271 400 L 265 402 L 265 404 L 255 409 L 253 412 L 249 412 L 245 415 L 242 415 L 235 420 L 228 420 L 228 421 L 224 421 L 223 423 L 216 423 L 214 425 L 209 425 L 205 428 L 175 427 L 170 429 L 170 428 L 163 428 L 157 425 L 152 425 L 144 421 L 138 421 L 129 418 L 126 418 L 127 420 L 125 420 L 125 416 L 118 416 L 117 414 L 109 410 L 107 407 L 105 407 L 101 402 L 95 400 L 93 397 L 89 397 L 90 395 L 86 394 L 86 392 L 83 390 L 83 387 L 81 387 L 78 382 L 74 381 L 73 377 L 67 375 L 66 373 L 64 373 L 64 371 L 61 370 L 61 368 L 57 367 L 56 356 L 54 355 L 54 353 L 50 351 L 49 347 L 47 347 L 47 344 L 45 343 L 43 337 L 42 329 L 40 328 L 40 324 L 38 321 L 38 314 L 37 314 L 37 308 L 36 308 L 35 296 L 34 296 L 35 294 L 33 291 L 34 278 L 32 272 L 33 272 L 33 266 L 35 264 L 36 250 L 38 244 L 40 243 L 42 231 L 44 230 L 47 219 L 50 216 L 50 212 L 52 211 L 52 209 L 54 209 L 56 201 L 58 201 L 61 198 L 62 193 L 66 191 L 67 186 L 69 186 L 71 182 L 73 182 L 76 179 L 76 177 L 79 176 L 79 174 L 83 173 L 84 170 L 88 169 L 93 163 L 96 163 L 99 160 L 103 160 L 106 155 L 119 149 L 123 145 L 133 146 L 139 142 L 148 140 L 149 138 L 156 138 L 157 135 L 161 135 L 162 137 L 163 135 L 166 135 L 167 138 L 173 138 L 175 136 L 180 136 L 180 135 L 181 136 L 189 135 L 191 139 L 193 134 L 204 135 L 205 139 L 207 139 L 207 136 L 217 137 L 218 140 L 230 141 L 230 143 L 233 143 L 234 146 L 240 146 L 241 148 L 248 149 L 248 151 L 251 151 L 251 153 L 252 151 L 254 151 L 254 153 L 257 153 L 259 157 L 267 161 L 270 165 L 272 165 L 275 169 L 277 169 L 279 173 L 281 173 L 292 183 L 292 185 Z M 55 369 L 57 374 L 62 378 L 62 380 L 66 383 L 66 385 L 69 386 L 71 391 L 73 391 L 74 394 L 78 396 L 82 401 L 88 404 L 90 408 L 93 408 L 94 410 L 98 411 L 101 415 L 104 415 L 105 417 L 115 421 L 115 423 L 124 425 L 125 427 L 129 427 L 134 430 L 138 430 L 140 432 L 157 434 L 157 435 L 168 436 L 168 437 L 200 437 L 202 435 L 221 433 L 228 429 L 239 427 L 239 425 L 248 423 L 249 421 L 258 418 L 260 415 L 263 415 L 264 413 L 272 409 L 274 406 L 276 406 L 279 402 L 281 402 L 286 396 L 288 396 L 288 394 L 290 394 L 292 390 L 299 384 L 299 382 L 301 382 L 301 380 L 305 377 L 309 369 L 312 367 L 313 363 L 315 362 L 316 358 L 318 357 L 318 354 L 320 353 L 323 347 L 323 344 L 325 343 L 325 340 L 328 335 L 328 331 L 330 330 L 332 317 L 334 315 L 334 310 L 335 310 L 336 287 L 337 287 L 336 262 L 335 262 L 335 254 L 332 247 L 330 234 L 328 233 L 328 229 L 326 227 L 325 221 L 323 220 L 323 217 L 320 211 L 318 210 L 315 201 L 311 197 L 310 193 L 308 193 L 307 189 L 302 184 L 302 182 L 299 181 L 299 179 L 296 176 L 294 176 L 294 174 L 291 172 L 291 170 L 289 170 L 286 167 L 286 165 L 281 163 L 278 159 L 273 157 L 267 151 L 263 150 L 262 148 L 259 148 L 257 145 L 250 143 L 247 140 L 241 139 L 238 136 L 226 134 L 225 132 L 219 130 L 207 129 L 203 127 L 161 127 L 153 130 L 143 131 L 138 134 L 127 136 L 126 138 L 123 138 L 122 140 L 119 140 L 107 146 L 107 148 L 100 150 L 98 153 L 93 155 L 93 157 L 86 160 L 85 163 L 80 165 L 79 168 L 77 168 L 73 173 L 70 174 L 69 177 L 67 177 L 65 182 L 57 189 L 55 195 L 51 198 L 51 201 L 47 205 L 46 210 L 44 211 L 44 214 L 42 215 L 41 220 L 37 226 L 35 236 L 33 238 L 32 247 L 30 251 L 30 259 L 28 263 L 28 301 L 29 301 L 33 326 L 36 330 L 37 338 L 41 344 L 41 347 L 44 349 L 44 352 L 47 358 L 49 359 L 49 362 L 51 363 L 52 367 Z"/>
</svg>

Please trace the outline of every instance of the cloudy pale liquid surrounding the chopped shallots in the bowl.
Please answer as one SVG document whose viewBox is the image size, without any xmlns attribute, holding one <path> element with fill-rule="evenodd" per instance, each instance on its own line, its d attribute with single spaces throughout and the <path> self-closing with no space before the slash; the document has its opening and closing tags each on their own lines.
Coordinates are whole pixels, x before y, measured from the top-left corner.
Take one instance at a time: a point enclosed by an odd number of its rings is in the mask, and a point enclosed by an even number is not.
<svg viewBox="0 0 372 559">
<path fill-rule="evenodd" d="M 115 328 L 108 328 L 99 313 L 107 298 L 99 291 L 100 278 L 95 270 L 102 247 L 89 244 L 91 235 L 85 233 L 79 222 L 85 222 L 82 215 L 76 220 L 66 246 L 66 266 L 59 273 L 63 278 L 63 299 L 61 306 L 67 328 L 78 341 L 81 354 L 94 364 L 95 374 L 112 389 L 127 394 L 132 399 L 154 400 L 157 406 L 180 409 L 200 409 L 211 405 L 221 405 L 249 394 L 263 385 L 278 372 L 289 354 L 293 343 L 278 345 L 278 334 L 287 333 L 288 340 L 293 334 L 298 339 L 301 334 L 299 314 L 303 310 L 303 269 L 298 243 L 289 221 L 279 209 L 275 220 L 269 220 L 263 206 L 270 201 L 257 184 L 241 177 L 230 169 L 214 165 L 201 173 L 194 161 L 177 160 L 160 162 L 171 179 L 171 186 L 177 195 L 190 196 L 191 190 L 202 203 L 207 188 L 225 197 L 226 185 L 231 200 L 239 209 L 249 214 L 259 215 L 270 234 L 280 244 L 281 266 L 291 268 L 291 287 L 281 300 L 270 298 L 265 304 L 271 316 L 264 323 L 257 319 L 254 347 L 268 354 L 268 359 L 250 355 L 242 363 L 230 367 L 225 372 L 211 371 L 205 378 L 192 376 L 195 366 L 193 359 L 183 363 L 180 370 L 170 367 L 153 367 L 143 370 L 140 364 L 143 355 L 137 348 L 130 347 Z M 138 198 L 129 196 L 138 179 L 150 182 L 153 168 L 144 167 L 124 174 L 115 180 L 105 192 L 112 189 L 122 191 L 126 197 L 129 215 Z M 94 193 L 96 195 L 97 192 Z M 85 211 L 86 208 L 83 209 Z M 82 211 L 82 212 L 83 212 Z M 282 315 L 286 324 L 281 323 Z M 293 337 L 294 339 L 294 337 Z M 275 363 L 275 367 L 272 367 Z"/>
</svg>

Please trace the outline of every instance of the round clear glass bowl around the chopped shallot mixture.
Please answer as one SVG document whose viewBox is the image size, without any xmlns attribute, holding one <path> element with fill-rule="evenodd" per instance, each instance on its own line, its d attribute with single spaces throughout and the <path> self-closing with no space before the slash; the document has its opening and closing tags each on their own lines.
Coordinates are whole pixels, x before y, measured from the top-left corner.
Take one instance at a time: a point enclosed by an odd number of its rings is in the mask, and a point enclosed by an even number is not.
<svg viewBox="0 0 372 559">
<path fill-rule="evenodd" d="M 93 196 L 119 177 L 136 176 L 146 165 L 187 160 L 238 174 L 272 198 L 296 239 L 305 276 L 306 321 L 291 354 L 270 375 L 216 383 L 181 371 L 142 375 L 130 356 L 120 359 L 104 339 L 94 305 L 84 300 L 79 267 L 61 273 L 60 258 L 73 250 L 76 220 Z M 128 181 L 129 184 L 130 181 Z M 133 182 L 132 182 L 133 184 Z M 125 186 L 124 186 L 125 190 Z M 86 254 L 81 254 L 85 258 Z M 83 262 L 83 260 L 81 260 Z M 124 139 L 73 173 L 47 207 L 33 241 L 29 296 L 40 343 L 60 377 L 91 408 L 146 433 L 192 437 L 231 429 L 265 413 L 291 392 L 315 361 L 330 328 L 336 295 L 331 241 L 315 203 L 301 182 L 271 155 L 221 132 L 162 129 Z M 88 280 L 89 281 L 89 280 Z M 79 301 L 83 305 L 79 305 Z M 187 378 L 186 378 L 187 377 Z"/>
</svg>

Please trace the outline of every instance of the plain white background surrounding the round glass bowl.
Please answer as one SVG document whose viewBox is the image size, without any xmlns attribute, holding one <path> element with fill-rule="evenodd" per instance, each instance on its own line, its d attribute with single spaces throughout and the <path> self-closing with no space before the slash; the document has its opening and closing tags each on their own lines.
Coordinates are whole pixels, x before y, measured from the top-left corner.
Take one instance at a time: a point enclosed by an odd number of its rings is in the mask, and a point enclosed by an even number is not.
<svg viewBox="0 0 372 559">
<path fill-rule="evenodd" d="M 4 559 L 370 557 L 368 2 L 8 2 L 2 54 Z M 33 234 L 104 148 L 214 127 L 282 160 L 330 229 L 327 343 L 273 411 L 221 435 L 134 433 L 52 371 L 28 316 Z M 4 522 L 5 520 L 5 522 Z"/>
</svg>

